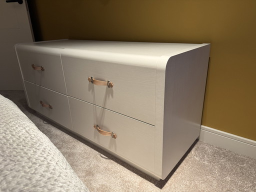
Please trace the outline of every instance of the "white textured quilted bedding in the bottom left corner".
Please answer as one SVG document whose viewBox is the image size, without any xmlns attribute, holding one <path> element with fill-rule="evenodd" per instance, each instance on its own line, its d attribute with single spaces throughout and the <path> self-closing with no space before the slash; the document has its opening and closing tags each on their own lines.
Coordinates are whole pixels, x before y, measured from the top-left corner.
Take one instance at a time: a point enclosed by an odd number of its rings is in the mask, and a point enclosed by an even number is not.
<svg viewBox="0 0 256 192">
<path fill-rule="evenodd" d="M 0 191 L 89 191 L 48 137 L 2 95 Z"/>
</svg>

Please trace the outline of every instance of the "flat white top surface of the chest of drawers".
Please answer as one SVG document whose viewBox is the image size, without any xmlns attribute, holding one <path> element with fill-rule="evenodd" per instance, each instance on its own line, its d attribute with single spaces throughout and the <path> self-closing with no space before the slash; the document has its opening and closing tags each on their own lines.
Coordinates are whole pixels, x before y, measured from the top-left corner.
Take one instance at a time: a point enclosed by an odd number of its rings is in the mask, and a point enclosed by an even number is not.
<svg viewBox="0 0 256 192">
<path fill-rule="evenodd" d="M 193 48 L 196 45 L 200 45 L 192 43 L 128 42 L 71 39 L 40 41 L 25 44 L 32 46 L 76 49 L 84 51 L 113 52 L 150 56 L 171 54 L 176 51 L 182 51 L 183 49 Z"/>
</svg>

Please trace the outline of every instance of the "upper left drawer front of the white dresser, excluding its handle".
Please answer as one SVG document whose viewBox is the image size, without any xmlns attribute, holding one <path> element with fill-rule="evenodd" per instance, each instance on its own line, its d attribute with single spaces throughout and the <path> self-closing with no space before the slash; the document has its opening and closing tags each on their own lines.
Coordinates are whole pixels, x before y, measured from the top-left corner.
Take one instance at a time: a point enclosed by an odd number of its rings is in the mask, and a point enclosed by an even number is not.
<svg viewBox="0 0 256 192">
<path fill-rule="evenodd" d="M 16 53 L 24 80 L 66 94 L 59 48 L 17 45 Z"/>
</svg>

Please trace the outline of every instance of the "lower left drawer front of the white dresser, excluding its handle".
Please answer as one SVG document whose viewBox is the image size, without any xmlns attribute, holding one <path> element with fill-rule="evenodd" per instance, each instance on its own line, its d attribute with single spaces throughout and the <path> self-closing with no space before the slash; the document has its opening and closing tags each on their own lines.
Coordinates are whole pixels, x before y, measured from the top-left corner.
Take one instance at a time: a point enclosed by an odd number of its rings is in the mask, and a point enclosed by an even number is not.
<svg viewBox="0 0 256 192">
<path fill-rule="evenodd" d="M 66 95 L 28 81 L 24 81 L 24 84 L 29 105 L 32 109 L 54 120 L 60 125 L 72 129 L 71 116 Z M 52 108 L 43 107 L 40 104 L 40 100 L 42 100 L 44 104 L 50 104 Z"/>
</svg>

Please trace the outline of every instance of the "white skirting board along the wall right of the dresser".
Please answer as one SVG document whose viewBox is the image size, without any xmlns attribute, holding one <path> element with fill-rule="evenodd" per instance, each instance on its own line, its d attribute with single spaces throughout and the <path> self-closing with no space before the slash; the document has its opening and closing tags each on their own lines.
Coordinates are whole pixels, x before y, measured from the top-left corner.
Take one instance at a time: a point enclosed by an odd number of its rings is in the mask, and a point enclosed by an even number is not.
<svg viewBox="0 0 256 192">
<path fill-rule="evenodd" d="M 199 140 L 256 158 L 256 141 L 201 125 Z"/>
</svg>

